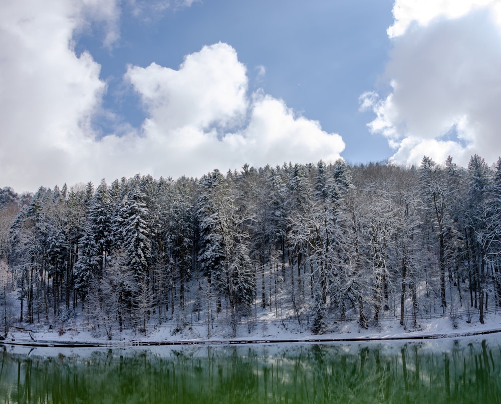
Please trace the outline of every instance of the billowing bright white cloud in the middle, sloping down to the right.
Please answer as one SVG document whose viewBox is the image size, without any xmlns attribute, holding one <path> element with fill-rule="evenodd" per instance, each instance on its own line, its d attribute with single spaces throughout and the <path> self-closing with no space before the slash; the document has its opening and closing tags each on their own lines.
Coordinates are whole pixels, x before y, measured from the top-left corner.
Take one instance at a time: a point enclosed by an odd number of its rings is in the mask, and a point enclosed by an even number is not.
<svg viewBox="0 0 501 404">
<path fill-rule="evenodd" d="M 149 114 L 142 126 L 146 150 L 165 156 L 158 174 L 335 160 L 344 149 L 341 136 L 295 114 L 283 100 L 261 90 L 249 95 L 245 67 L 225 43 L 186 56 L 177 70 L 130 66 L 126 77 Z"/>
</svg>

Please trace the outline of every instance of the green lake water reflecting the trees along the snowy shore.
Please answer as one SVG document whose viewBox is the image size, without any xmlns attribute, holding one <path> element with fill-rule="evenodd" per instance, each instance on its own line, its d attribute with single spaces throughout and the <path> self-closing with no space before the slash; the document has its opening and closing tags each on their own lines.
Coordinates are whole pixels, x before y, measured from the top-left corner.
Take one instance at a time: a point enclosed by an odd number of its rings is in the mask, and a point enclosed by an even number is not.
<svg viewBox="0 0 501 404">
<path fill-rule="evenodd" d="M 0 350 L 0 403 L 501 402 L 501 337 L 52 349 Z"/>
</svg>

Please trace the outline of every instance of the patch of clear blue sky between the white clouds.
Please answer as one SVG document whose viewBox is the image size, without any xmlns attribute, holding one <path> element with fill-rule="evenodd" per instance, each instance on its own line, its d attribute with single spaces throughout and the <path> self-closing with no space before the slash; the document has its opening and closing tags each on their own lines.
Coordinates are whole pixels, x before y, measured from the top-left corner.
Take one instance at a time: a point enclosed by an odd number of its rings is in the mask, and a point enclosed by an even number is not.
<svg viewBox="0 0 501 404">
<path fill-rule="evenodd" d="M 114 90 L 120 88 L 127 64 L 156 62 L 176 69 L 184 55 L 203 45 L 227 43 L 247 68 L 250 90 L 262 88 L 320 121 L 327 132 L 342 133 L 344 158 L 378 161 L 391 151 L 383 138 L 369 134 L 370 116 L 359 111 L 358 98 L 384 71 L 392 5 L 388 0 L 204 1 L 165 10 L 161 17 L 145 11 L 142 18 L 126 8 L 120 44 L 110 51 L 102 47 L 100 35 L 87 32 L 76 50 L 90 50 L 102 66 L 101 76 L 109 79 L 106 107 L 139 126 L 145 116 L 138 99 L 128 94 L 124 101 Z"/>
</svg>

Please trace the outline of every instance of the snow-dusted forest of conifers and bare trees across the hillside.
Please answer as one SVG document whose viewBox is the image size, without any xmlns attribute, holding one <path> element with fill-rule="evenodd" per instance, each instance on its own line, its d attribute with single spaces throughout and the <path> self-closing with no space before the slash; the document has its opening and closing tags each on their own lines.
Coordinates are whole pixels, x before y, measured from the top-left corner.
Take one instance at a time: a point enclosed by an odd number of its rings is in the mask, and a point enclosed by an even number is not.
<svg viewBox="0 0 501 404">
<path fill-rule="evenodd" d="M 0 189 L 0 328 L 114 332 L 225 321 L 256 307 L 377 326 L 501 303 L 501 158 L 467 167 L 245 164 L 201 178 Z"/>
</svg>

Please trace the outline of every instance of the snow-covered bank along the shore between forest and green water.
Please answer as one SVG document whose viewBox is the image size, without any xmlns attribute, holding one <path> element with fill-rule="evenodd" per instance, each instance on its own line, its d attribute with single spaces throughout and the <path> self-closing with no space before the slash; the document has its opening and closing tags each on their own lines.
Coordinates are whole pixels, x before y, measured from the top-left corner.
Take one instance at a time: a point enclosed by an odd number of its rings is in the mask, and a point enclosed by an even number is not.
<svg viewBox="0 0 501 404">
<path fill-rule="evenodd" d="M 212 335 L 201 336 L 203 331 L 203 326 L 192 326 L 179 332 L 173 324 L 164 324 L 153 327 L 146 335 L 134 330 L 125 330 L 115 332 L 112 339 L 105 339 L 93 336 L 86 329 L 70 329 L 61 333 L 54 329 L 13 327 L 2 337 L 0 344 L 43 347 L 125 347 L 460 338 L 500 333 L 501 313 L 489 313 L 483 324 L 475 321 L 466 322 L 462 319 L 451 321 L 450 317 L 442 316 L 423 320 L 413 329 L 405 329 L 396 319 L 387 319 L 378 327 L 368 329 L 361 328 L 356 321 L 348 321 L 321 335 L 314 335 L 308 329 L 298 329 L 297 326 L 283 321 L 262 322 L 253 332 L 242 326 L 236 337 L 228 337 L 227 329 L 224 327 L 214 330 Z"/>
</svg>

